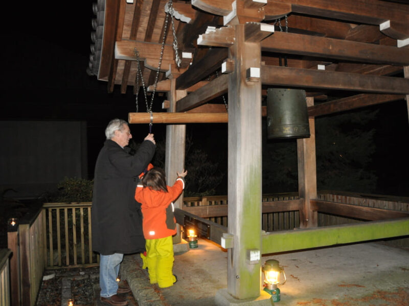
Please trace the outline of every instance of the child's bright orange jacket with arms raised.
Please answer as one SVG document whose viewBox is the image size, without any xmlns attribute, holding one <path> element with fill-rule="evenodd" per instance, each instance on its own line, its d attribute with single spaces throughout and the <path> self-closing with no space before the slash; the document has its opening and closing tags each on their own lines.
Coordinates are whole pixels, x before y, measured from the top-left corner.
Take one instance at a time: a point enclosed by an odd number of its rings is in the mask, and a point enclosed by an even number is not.
<svg viewBox="0 0 409 306">
<path fill-rule="evenodd" d="M 159 239 L 176 234 L 173 203 L 185 188 L 185 181 L 178 177 L 168 192 L 152 190 L 142 184 L 135 190 L 135 200 L 142 204 L 143 232 L 145 239 Z"/>
</svg>

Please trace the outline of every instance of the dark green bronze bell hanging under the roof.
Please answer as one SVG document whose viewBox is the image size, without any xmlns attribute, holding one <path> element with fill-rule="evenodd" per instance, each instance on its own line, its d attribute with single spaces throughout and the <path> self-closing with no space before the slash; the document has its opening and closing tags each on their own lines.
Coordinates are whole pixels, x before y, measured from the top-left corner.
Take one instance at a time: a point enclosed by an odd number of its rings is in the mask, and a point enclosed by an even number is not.
<svg viewBox="0 0 409 306">
<path fill-rule="evenodd" d="M 267 89 L 267 139 L 310 137 L 305 90 Z"/>
</svg>

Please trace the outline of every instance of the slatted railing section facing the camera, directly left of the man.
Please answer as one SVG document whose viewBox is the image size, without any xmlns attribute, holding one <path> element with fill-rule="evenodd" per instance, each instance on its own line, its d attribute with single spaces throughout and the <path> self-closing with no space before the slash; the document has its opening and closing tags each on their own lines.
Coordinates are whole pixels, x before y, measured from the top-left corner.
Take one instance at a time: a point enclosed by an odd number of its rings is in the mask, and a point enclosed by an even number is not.
<svg viewBox="0 0 409 306">
<path fill-rule="evenodd" d="M 95 266 L 99 256 L 92 250 L 91 202 L 43 205 L 46 268 Z"/>
</svg>

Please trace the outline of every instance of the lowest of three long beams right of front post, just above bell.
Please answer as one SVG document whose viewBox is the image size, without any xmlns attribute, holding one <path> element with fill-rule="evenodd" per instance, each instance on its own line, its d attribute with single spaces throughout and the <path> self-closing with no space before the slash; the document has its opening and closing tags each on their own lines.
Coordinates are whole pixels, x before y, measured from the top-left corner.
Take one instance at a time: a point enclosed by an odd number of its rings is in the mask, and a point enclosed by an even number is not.
<svg viewBox="0 0 409 306">
<path fill-rule="evenodd" d="M 260 76 L 262 84 L 273 86 L 391 94 L 409 93 L 409 79 L 377 75 L 262 65 Z"/>
</svg>

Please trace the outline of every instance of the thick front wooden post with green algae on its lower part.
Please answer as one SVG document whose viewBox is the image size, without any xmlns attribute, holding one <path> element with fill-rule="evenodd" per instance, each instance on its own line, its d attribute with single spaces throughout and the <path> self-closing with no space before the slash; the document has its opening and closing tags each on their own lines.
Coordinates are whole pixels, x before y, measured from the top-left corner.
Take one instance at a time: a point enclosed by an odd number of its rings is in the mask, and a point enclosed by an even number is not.
<svg viewBox="0 0 409 306">
<path fill-rule="evenodd" d="M 260 67 L 259 42 L 244 40 L 244 25 L 235 27 L 229 49 L 235 69 L 229 73 L 229 233 L 228 293 L 236 299 L 257 298 L 261 289 L 261 82 L 247 82 L 246 70 Z"/>
</svg>

